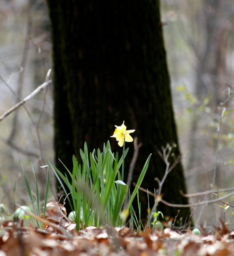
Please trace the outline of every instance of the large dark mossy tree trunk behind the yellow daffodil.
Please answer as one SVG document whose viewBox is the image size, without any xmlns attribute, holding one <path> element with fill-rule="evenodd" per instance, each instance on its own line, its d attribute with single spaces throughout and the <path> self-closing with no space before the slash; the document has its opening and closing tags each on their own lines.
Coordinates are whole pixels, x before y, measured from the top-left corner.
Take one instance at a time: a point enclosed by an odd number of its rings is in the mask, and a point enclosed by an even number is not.
<svg viewBox="0 0 234 256">
<path fill-rule="evenodd" d="M 54 56 L 54 119 L 56 164 L 60 158 L 71 168 L 72 154 L 87 141 L 89 150 L 102 148 L 110 139 L 113 151 L 121 152 L 110 138 L 114 125 L 123 121 L 143 143 L 134 172 L 152 153 L 144 188 L 154 192 L 165 163 L 156 148 L 178 145 L 171 102 L 170 80 L 163 43 L 158 0 L 94 1 L 48 0 Z M 132 157 L 133 145 L 128 159 Z M 180 154 L 179 146 L 175 152 Z M 163 186 L 163 199 L 188 203 L 182 165 L 178 164 Z M 141 194 L 146 214 L 147 195 Z M 154 199 L 151 200 L 151 206 Z M 176 216 L 176 208 L 160 205 Z M 189 209 L 181 209 L 186 218 Z"/>
</svg>

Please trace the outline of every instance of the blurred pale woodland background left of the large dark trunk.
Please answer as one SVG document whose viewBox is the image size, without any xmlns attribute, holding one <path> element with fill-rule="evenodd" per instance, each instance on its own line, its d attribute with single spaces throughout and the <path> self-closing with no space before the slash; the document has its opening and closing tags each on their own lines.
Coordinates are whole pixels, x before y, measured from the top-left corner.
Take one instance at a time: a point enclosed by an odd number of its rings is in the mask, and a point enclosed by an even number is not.
<svg viewBox="0 0 234 256">
<path fill-rule="evenodd" d="M 9 0 L 0 4 L 0 109 L 2 114 L 19 99 L 45 81 L 51 67 L 49 17 L 41 1 Z M 52 150 L 52 87 L 28 101 L 1 122 L 0 202 L 14 208 L 28 196 L 22 179 L 22 167 L 33 178 L 30 162 L 38 173 L 43 198 L 46 175 L 39 166 Z M 29 171 L 30 170 L 30 171 Z M 16 191 L 13 190 L 16 183 Z"/>
</svg>

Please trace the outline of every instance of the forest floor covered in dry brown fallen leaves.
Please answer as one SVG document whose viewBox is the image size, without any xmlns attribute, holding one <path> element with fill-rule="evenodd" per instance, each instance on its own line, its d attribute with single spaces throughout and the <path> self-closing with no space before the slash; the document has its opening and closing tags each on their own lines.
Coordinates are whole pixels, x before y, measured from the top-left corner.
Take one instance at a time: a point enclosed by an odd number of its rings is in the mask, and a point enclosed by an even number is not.
<svg viewBox="0 0 234 256">
<path fill-rule="evenodd" d="M 62 220 L 44 226 L 44 230 L 23 225 L 23 221 L 0 224 L 0 256 L 40 255 L 234 255 L 234 232 L 224 223 L 214 227 L 212 234 L 190 230 L 176 232 L 146 228 L 141 234 L 128 228 L 87 227 L 75 231 L 74 223 Z"/>
</svg>

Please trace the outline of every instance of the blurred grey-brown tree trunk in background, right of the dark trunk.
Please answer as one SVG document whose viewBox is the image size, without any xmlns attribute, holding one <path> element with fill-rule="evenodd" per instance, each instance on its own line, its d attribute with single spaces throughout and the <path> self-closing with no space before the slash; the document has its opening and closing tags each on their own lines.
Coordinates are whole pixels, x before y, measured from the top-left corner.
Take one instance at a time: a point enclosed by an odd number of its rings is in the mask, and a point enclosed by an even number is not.
<svg viewBox="0 0 234 256">
<path fill-rule="evenodd" d="M 226 3 L 221 0 L 205 0 L 202 2 L 200 12 L 197 14 L 202 24 L 199 24 L 199 30 L 202 31 L 202 35 L 199 38 L 199 45 L 195 49 L 197 53 L 197 68 L 196 68 L 196 84 L 195 95 L 202 103 L 205 98 L 209 98 L 208 106 L 212 112 L 217 115 L 217 119 L 220 118 L 222 110 L 219 109 L 220 103 L 225 101 L 225 50 L 226 38 L 228 26 L 225 19 L 227 14 L 224 10 Z M 221 18 L 222 17 L 222 18 Z M 200 32 L 201 33 L 201 32 Z M 216 163 L 216 152 L 218 149 L 219 141 L 217 137 L 210 139 L 202 134 L 204 126 L 207 124 L 207 115 L 202 113 L 200 115 L 194 115 L 191 123 L 191 141 L 189 146 L 189 160 L 187 170 L 199 168 L 212 170 L 215 162 L 216 174 L 210 172 L 209 182 L 203 179 L 203 182 L 199 182 L 200 188 L 210 188 L 210 184 L 214 187 L 222 180 L 220 172 L 222 172 L 221 166 Z M 213 133 L 217 132 L 217 128 L 213 128 Z M 207 146 L 209 145 L 209 146 Z M 213 151 L 210 157 L 210 150 Z M 221 168 L 221 170 L 220 170 Z M 214 176 L 215 175 L 215 176 Z M 201 177 L 199 177 L 201 179 Z M 214 179 L 214 180 L 213 180 Z"/>
</svg>

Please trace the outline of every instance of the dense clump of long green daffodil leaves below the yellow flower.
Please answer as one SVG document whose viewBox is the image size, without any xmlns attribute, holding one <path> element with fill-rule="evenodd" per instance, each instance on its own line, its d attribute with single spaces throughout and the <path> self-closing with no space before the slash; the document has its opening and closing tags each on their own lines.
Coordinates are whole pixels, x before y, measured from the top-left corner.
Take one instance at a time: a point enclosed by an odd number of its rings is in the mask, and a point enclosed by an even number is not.
<svg viewBox="0 0 234 256">
<path fill-rule="evenodd" d="M 124 156 L 127 152 L 128 149 L 125 150 Z M 104 224 L 123 225 L 125 219 L 121 218 L 123 216 L 121 211 L 128 192 L 123 174 L 119 171 L 123 157 L 119 159 L 118 153 L 114 154 L 111 151 L 109 141 L 106 145 L 104 143 L 103 152 L 98 148 L 97 152 L 93 150 L 88 153 L 87 143 L 85 143 L 84 151 L 80 150 L 80 157 L 82 164 L 78 163 L 73 156 L 73 170 L 71 172 L 65 167 L 66 174 L 52 166 L 49 161 L 74 211 L 72 218 L 76 222 L 76 230 L 90 225 L 96 227 Z M 137 185 L 129 198 L 126 212 L 132 212 L 132 201 L 143 181 L 150 157 L 151 155 L 146 160 Z M 69 191 L 66 190 L 64 183 Z M 71 194 L 71 200 L 69 194 Z"/>
</svg>

